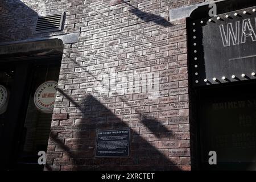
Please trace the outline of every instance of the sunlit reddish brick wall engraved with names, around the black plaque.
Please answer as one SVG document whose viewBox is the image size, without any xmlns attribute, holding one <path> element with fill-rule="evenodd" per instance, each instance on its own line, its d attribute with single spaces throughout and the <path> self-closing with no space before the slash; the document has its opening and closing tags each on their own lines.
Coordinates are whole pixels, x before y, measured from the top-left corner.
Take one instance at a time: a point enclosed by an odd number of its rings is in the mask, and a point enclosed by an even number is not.
<svg viewBox="0 0 256 182">
<path fill-rule="evenodd" d="M 191 169 L 186 21 L 169 22 L 168 13 L 199 2 L 1 3 L 0 42 L 80 32 L 64 44 L 45 169 Z M 62 11 L 63 31 L 32 33 L 36 13 Z M 159 77 L 154 92 L 144 92 L 148 73 Z M 95 158 L 96 131 L 123 128 L 130 156 Z"/>
</svg>

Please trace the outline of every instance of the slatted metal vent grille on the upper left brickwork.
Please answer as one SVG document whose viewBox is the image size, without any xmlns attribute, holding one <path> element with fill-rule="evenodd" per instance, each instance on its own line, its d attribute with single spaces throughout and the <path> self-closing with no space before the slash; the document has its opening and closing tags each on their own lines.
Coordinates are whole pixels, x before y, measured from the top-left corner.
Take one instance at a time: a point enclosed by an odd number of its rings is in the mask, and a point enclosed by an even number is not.
<svg viewBox="0 0 256 182">
<path fill-rule="evenodd" d="M 35 33 L 60 31 L 64 13 L 39 16 L 36 23 Z"/>
</svg>

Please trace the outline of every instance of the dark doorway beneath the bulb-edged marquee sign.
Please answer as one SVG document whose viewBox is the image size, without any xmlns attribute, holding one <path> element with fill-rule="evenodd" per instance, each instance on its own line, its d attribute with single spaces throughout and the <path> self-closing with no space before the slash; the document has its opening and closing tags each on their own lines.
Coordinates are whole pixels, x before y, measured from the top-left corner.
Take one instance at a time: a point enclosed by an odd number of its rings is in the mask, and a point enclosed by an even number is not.
<svg viewBox="0 0 256 182">
<path fill-rule="evenodd" d="M 256 169 L 256 95 L 254 82 L 197 90 L 201 169 Z M 209 151 L 217 165 L 209 165 Z"/>
</svg>

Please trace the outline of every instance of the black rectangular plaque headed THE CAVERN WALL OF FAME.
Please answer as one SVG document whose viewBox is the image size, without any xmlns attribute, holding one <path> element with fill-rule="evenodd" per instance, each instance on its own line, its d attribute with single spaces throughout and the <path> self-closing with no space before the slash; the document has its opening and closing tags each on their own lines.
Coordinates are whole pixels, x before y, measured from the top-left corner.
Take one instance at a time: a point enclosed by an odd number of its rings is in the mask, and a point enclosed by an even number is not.
<svg viewBox="0 0 256 182">
<path fill-rule="evenodd" d="M 98 131 L 96 157 L 129 156 L 130 130 Z"/>
</svg>

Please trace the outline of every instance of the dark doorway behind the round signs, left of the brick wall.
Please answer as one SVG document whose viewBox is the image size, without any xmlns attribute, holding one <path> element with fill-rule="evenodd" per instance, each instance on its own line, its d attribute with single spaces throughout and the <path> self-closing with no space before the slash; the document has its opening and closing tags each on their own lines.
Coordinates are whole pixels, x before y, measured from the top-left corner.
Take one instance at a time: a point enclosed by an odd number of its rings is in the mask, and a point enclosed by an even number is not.
<svg viewBox="0 0 256 182">
<path fill-rule="evenodd" d="M 40 84 L 59 80 L 61 56 L 0 63 L 0 85 L 9 94 L 7 109 L 0 114 L 2 169 L 43 169 L 38 152 L 47 150 L 52 114 L 37 110 L 33 99 Z"/>
</svg>

